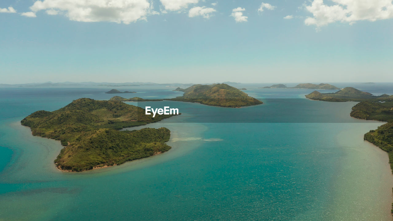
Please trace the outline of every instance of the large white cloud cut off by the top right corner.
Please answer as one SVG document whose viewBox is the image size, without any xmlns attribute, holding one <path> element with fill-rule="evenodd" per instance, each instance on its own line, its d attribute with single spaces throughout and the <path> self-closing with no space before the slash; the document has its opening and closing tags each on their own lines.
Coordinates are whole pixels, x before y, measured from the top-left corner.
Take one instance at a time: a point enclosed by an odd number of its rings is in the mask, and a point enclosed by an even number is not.
<svg viewBox="0 0 393 221">
<path fill-rule="evenodd" d="M 328 6 L 323 0 L 314 0 L 306 6 L 313 17 L 307 17 L 306 25 L 325 26 L 333 22 L 353 24 L 360 20 L 383 20 L 393 18 L 391 0 L 332 0 L 335 4 Z"/>
</svg>

